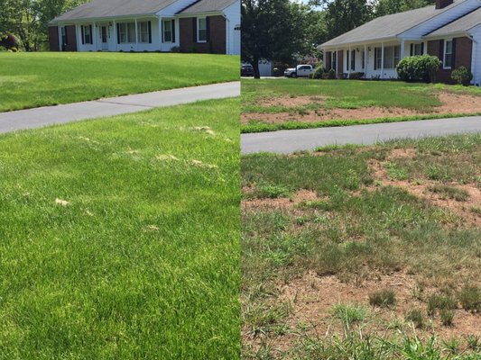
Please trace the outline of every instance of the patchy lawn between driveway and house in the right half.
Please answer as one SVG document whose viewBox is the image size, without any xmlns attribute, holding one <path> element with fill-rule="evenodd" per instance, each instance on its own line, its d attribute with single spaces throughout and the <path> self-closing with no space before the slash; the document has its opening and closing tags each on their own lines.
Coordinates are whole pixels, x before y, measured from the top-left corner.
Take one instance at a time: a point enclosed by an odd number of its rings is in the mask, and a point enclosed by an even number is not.
<svg viewBox="0 0 481 360">
<path fill-rule="evenodd" d="M 310 79 L 245 79 L 242 81 L 242 132 L 310 129 L 365 123 L 415 121 L 478 115 L 471 112 L 435 112 L 441 92 L 480 96 L 481 90 L 453 85 L 409 84 L 401 81 L 347 81 Z M 267 103 L 267 104 L 266 104 Z M 335 110 L 382 108 L 384 114 L 351 118 L 329 114 Z M 391 109 L 391 110 L 390 110 Z M 393 110 L 394 109 L 394 110 Z M 412 113 L 397 114 L 404 109 Z M 468 110 L 468 109 L 467 109 Z M 270 115 L 283 115 L 273 121 Z M 309 120 L 306 120 L 306 116 Z M 340 116 L 340 117 L 339 117 Z"/>
</svg>

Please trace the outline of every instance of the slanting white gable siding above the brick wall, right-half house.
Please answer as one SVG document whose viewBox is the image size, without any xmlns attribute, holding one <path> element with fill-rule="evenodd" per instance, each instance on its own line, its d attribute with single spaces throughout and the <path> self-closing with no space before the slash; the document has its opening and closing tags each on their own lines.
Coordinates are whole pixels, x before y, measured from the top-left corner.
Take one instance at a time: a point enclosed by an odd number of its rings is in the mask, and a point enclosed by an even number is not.
<svg viewBox="0 0 481 360">
<path fill-rule="evenodd" d="M 468 14 L 479 7 L 481 7 L 479 0 L 466 0 L 463 3 L 454 6 L 449 11 L 439 14 L 427 22 L 421 23 L 408 31 L 402 32 L 399 37 L 404 39 L 421 39 L 422 36 L 457 20 L 461 16 Z"/>
</svg>

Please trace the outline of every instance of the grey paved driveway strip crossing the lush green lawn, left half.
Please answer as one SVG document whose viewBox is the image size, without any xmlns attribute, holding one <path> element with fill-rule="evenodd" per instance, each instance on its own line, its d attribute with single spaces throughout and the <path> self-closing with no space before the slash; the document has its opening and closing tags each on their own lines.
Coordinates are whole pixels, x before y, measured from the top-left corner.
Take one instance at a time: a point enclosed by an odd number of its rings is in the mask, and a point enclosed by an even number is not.
<svg viewBox="0 0 481 360">
<path fill-rule="evenodd" d="M 155 107 L 223 99 L 240 95 L 240 83 L 223 83 L 184 87 L 154 93 L 118 96 L 83 103 L 69 103 L 16 112 L 0 112 L 0 133 L 42 128 L 52 124 L 94 119 Z"/>
</svg>

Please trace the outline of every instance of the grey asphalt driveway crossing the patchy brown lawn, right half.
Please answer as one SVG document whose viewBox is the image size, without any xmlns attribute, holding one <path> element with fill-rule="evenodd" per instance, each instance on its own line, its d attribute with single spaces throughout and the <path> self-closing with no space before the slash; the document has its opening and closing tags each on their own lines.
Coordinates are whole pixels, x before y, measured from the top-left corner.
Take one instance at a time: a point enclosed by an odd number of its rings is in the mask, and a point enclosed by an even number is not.
<svg viewBox="0 0 481 360">
<path fill-rule="evenodd" d="M 242 134 L 241 151 L 243 154 L 289 154 L 328 145 L 371 145 L 391 139 L 418 139 L 465 132 L 481 132 L 481 116 Z"/>
</svg>

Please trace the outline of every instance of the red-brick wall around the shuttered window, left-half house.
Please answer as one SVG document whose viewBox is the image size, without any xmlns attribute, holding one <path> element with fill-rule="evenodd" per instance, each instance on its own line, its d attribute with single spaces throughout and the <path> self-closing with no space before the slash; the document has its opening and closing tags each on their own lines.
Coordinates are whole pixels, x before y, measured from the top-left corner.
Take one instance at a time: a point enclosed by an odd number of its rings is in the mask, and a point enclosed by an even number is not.
<svg viewBox="0 0 481 360">
<path fill-rule="evenodd" d="M 226 54 L 226 19 L 223 16 L 209 16 L 209 40 L 197 42 L 194 39 L 194 21 L 196 18 L 180 19 L 180 49 L 183 52 L 202 52 Z"/>
</svg>

